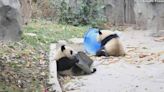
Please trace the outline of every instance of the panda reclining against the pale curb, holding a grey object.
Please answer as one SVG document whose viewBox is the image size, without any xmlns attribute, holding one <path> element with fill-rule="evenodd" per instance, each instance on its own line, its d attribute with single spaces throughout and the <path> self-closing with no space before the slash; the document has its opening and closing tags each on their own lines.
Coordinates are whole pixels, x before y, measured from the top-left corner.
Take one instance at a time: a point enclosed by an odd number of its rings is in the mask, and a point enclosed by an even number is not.
<svg viewBox="0 0 164 92">
<path fill-rule="evenodd" d="M 62 45 L 55 54 L 55 60 L 57 62 L 57 71 L 61 75 L 82 75 L 85 72 L 80 69 L 76 63 L 79 60 L 76 58 L 77 52 L 71 47 Z M 93 69 L 91 73 L 96 70 Z"/>
</svg>

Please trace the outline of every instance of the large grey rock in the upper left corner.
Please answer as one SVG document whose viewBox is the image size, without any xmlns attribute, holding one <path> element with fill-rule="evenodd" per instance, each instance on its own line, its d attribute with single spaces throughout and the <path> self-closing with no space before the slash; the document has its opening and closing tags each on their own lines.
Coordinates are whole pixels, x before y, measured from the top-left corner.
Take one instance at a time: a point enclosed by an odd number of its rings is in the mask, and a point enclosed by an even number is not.
<svg viewBox="0 0 164 92">
<path fill-rule="evenodd" d="M 19 0 L 0 0 L 0 12 L 0 40 L 19 40 L 22 33 Z"/>
</svg>

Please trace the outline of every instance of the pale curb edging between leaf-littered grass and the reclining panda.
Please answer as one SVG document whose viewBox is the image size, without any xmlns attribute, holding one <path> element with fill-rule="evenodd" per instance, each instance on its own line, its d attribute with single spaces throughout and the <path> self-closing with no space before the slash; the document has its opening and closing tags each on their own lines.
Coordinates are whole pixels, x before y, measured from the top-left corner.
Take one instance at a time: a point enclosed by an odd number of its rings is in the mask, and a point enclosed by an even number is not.
<svg viewBox="0 0 164 92">
<path fill-rule="evenodd" d="M 56 44 L 50 45 L 50 54 L 49 54 L 49 84 L 52 86 L 52 91 L 55 92 L 62 92 L 61 86 L 59 84 L 58 78 L 57 78 L 57 66 L 56 66 L 56 60 L 54 59 L 56 51 Z"/>
</svg>

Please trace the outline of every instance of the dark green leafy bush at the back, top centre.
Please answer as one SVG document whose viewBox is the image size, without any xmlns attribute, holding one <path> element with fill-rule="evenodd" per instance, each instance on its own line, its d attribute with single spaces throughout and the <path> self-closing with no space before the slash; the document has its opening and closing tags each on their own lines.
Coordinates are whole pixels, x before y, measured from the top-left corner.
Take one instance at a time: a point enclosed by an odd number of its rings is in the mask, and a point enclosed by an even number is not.
<svg viewBox="0 0 164 92">
<path fill-rule="evenodd" d="M 100 1 L 82 0 L 77 1 L 77 6 L 70 5 L 67 0 L 59 0 L 56 6 L 59 11 L 59 23 L 70 25 L 92 25 L 97 27 L 100 23 L 107 21 L 103 14 L 103 5 Z"/>
</svg>

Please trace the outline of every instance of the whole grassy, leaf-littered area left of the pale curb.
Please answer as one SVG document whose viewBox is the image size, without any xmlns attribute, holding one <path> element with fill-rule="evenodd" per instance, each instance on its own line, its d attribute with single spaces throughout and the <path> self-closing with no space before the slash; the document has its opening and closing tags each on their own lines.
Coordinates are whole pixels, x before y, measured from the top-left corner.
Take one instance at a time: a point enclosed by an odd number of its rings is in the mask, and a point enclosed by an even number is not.
<svg viewBox="0 0 164 92">
<path fill-rule="evenodd" d="M 33 20 L 24 26 L 21 41 L 0 43 L 0 91 L 46 90 L 49 45 L 58 40 L 82 37 L 87 29 L 88 26 L 74 27 Z"/>
</svg>

